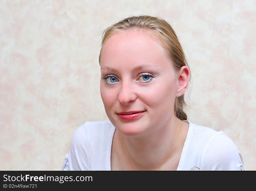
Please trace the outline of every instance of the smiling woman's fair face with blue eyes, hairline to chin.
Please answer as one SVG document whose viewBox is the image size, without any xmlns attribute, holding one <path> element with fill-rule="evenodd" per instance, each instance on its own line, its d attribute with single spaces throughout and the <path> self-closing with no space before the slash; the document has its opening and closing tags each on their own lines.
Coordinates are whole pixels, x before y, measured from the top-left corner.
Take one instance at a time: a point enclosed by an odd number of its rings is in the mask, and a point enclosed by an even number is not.
<svg viewBox="0 0 256 191">
<path fill-rule="evenodd" d="M 106 115 L 123 135 L 138 137 L 168 125 L 174 119 L 177 85 L 173 64 L 155 35 L 138 30 L 119 32 L 104 44 L 100 93 Z M 124 120 L 117 114 L 123 111 L 145 112 Z"/>
</svg>

